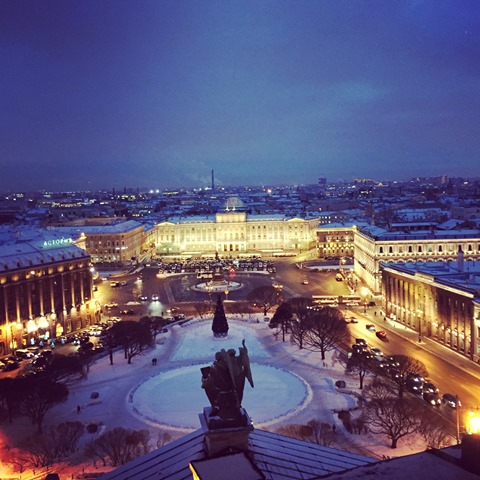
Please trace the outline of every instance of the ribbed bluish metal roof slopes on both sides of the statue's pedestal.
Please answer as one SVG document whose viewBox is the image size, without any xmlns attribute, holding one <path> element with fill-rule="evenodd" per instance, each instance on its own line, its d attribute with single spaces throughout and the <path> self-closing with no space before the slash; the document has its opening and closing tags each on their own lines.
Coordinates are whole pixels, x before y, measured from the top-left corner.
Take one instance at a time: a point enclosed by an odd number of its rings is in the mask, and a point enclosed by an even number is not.
<svg viewBox="0 0 480 480">
<path fill-rule="evenodd" d="M 246 453 L 269 480 L 307 480 L 376 462 L 368 457 L 254 430 Z M 189 464 L 206 458 L 204 431 L 196 430 L 107 473 L 104 480 L 191 480 Z"/>
</svg>

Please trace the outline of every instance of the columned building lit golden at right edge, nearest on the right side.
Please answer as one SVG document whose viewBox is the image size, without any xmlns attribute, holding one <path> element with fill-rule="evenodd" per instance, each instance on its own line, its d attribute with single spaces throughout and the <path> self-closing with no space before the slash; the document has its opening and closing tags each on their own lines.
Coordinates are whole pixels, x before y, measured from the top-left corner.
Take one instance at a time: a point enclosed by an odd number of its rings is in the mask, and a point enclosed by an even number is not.
<svg viewBox="0 0 480 480">
<path fill-rule="evenodd" d="M 456 262 L 382 266 L 385 314 L 476 362 L 480 359 L 480 265 Z"/>
</svg>

